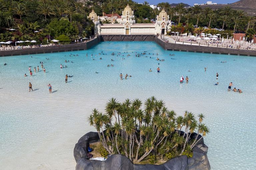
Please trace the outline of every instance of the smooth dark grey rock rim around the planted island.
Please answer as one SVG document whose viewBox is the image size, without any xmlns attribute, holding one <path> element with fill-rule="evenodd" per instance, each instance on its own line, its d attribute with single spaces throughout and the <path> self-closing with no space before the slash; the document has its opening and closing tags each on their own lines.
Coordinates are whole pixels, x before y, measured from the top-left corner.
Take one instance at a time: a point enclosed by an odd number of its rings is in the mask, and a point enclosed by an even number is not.
<svg viewBox="0 0 256 170">
<path fill-rule="evenodd" d="M 181 132 L 184 134 L 184 132 Z M 185 134 L 186 135 L 186 134 Z M 191 139 L 196 137 L 196 133 L 191 135 Z M 201 135 L 198 135 L 201 138 Z M 207 157 L 208 147 L 204 144 L 203 138 L 198 141 L 193 148 L 193 156 L 177 156 L 163 163 L 162 165 L 133 164 L 124 155 L 109 155 L 105 161 L 87 160 L 87 147 L 89 143 L 99 141 L 97 132 L 89 132 L 83 135 L 76 143 L 74 157 L 77 162 L 76 170 L 210 170 L 210 163 Z"/>
</svg>

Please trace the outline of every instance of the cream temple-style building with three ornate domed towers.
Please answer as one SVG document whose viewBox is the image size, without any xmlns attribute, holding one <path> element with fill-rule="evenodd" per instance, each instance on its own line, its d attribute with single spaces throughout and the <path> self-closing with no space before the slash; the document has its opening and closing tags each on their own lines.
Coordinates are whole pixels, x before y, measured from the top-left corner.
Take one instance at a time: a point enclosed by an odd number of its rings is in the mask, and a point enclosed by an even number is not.
<svg viewBox="0 0 256 170">
<path fill-rule="evenodd" d="M 89 14 L 90 18 L 95 24 L 96 35 L 101 34 L 122 34 L 122 35 L 132 35 L 132 34 L 166 34 L 168 29 L 171 28 L 171 22 L 169 20 L 169 15 L 163 9 L 159 15 L 157 15 L 157 21 L 155 24 L 136 24 L 133 11 L 127 4 L 126 8 L 122 12 L 121 18 L 117 21 L 119 24 L 100 24 L 99 17 L 92 10 Z M 114 17 L 110 17 L 110 22 L 115 20 Z"/>
</svg>

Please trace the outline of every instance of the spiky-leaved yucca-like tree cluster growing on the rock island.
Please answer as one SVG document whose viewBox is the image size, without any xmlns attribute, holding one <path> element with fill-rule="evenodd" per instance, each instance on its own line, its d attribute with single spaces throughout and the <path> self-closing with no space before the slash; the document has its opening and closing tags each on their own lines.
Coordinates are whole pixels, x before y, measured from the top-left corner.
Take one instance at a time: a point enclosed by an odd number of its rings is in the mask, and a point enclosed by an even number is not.
<svg viewBox="0 0 256 170">
<path fill-rule="evenodd" d="M 110 154 L 123 154 L 133 162 L 142 161 L 150 153 L 161 154 L 162 160 L 170 152 L 176 156 L 191 153 L 197 142 L 209 133 L 203 114 L 197 119 L 185 111 L 184 116 L 176 117 L 175 111 L 169 111 L 164 101 L 154 96 L 144 103 L 139 99 L 120 103 L 111 98 L 105 108 L 104 114 L 97 109 L 92 111 L 88 117 L 90 126 L 96 128 Z M 190 139 L 195 132 L 196 137 Z M 199 134 L 202 134 L 200 138 Z"/>
</svg>

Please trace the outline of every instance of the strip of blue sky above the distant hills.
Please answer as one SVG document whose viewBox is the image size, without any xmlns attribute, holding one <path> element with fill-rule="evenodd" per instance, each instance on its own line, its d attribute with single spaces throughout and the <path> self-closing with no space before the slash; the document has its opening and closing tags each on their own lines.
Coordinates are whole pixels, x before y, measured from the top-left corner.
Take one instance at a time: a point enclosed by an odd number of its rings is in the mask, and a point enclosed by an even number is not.
<svg viewBox="0 0 256 170">
<path fill-rule="evenodd" d="M 144 0 L 135 0 L 137 1 L 138 3 L 143 3 Z M 150 4 L 150 5 L 157 5 L 158 3 L 160 2 L 169 2 L 170 4 L 172 3 L 184 3 L 184 4 L 188 4 L 188 5 L 191 5 L 193 6 L 194 4 L 204 4 L 206 3 L 207 1 L 212 1 L 212 3 L 217 3 L 217 4 L 227 4 L 227 3 L 234 3 L 236 1 L 239 1 L 239 0 L 179 0 L 179 1 L 170 1 L 170 0 L 147 0 L 147 2 Z"/>
</svg>

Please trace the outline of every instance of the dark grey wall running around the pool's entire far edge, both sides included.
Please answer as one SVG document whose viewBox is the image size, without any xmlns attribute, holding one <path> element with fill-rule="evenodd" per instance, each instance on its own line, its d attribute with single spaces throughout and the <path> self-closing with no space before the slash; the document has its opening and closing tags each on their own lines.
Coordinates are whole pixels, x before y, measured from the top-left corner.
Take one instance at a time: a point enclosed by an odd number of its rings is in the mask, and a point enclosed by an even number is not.
<svg viewBox="0 0 256 170">
<path fill-rule="evenodd" d="M 53 52 L 65 52 L 65 51 L 77 51 L 77 50 L 87 50 L 90 47 L 96 45 L 103 41 L 154 41 L 160 45 L 165 50 L 172 51 L 187 51 L 187 52 L 201 52 L 201 53 L 217 53 L 217 54 L 229 54 L 229 55 L 245 55 L 245 56 L 256 56 L 256 50 L 253 49 L 237 49 L 237 48 L 227 48 L 224 46 L 212 46 L 212 45 L 200 45 L 195 43 L 187 42 L 176 42 L 171 39 L 169 42 L 161 40 L 160 36 L 156 35 L 99 35 L 89 42 L 85 43 L 75 43 L 66 45 L 55 45 L 55 46 L 45 46 L 36 48 L 25 48 L 25 49 L 15 49 L 15 50 L 1 50 L 0 56 L 13 56 L 13 55 L 30 55 L 39 53 L 53 53 Z"/>
</svg>

